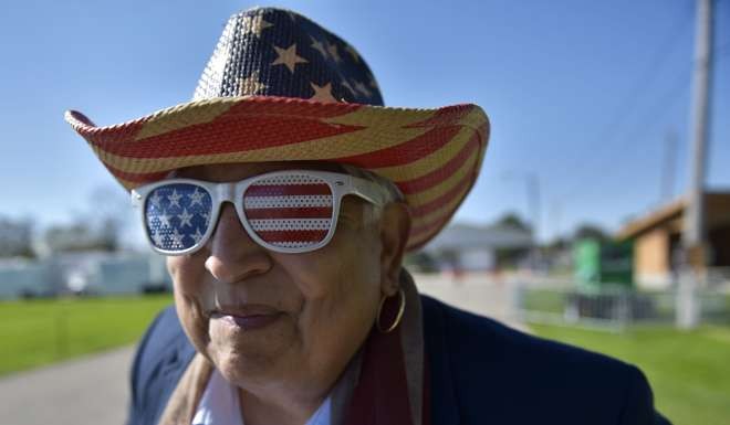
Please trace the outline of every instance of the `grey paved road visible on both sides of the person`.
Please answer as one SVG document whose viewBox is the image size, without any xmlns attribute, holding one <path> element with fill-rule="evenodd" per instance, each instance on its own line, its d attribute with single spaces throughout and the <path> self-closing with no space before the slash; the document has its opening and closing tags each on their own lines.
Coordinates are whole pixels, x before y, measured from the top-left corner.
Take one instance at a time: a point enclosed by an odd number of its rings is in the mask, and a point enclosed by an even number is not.
<svg viewBox="0 0 730 425">
<path fill-rule="evenodd" d="M 512 321 L 513 286 L 508 280 L 487 275 L 415 279 L 425 294 L 521 328 Z M 0 424 L 123 424 L 133 351 L 127 347 L 0 380 Z"/>
</svg>

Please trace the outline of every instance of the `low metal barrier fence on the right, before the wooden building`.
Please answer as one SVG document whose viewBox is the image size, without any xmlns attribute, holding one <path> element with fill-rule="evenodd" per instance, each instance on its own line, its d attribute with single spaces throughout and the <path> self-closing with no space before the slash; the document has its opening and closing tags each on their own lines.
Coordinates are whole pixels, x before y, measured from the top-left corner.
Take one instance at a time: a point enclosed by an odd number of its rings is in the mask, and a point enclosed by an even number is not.
<svg viewBox="0 0 730 425">
<path fill-rule="evenodd" d="M 702 289 L 697 294 L 700 322 L 730 326 L 730 293 Z M 571 285 L 515 287 L 517 319 L 622 331 L 634 325 L 674 326 L 676 290 L 634 290 L 620 286 L 577 289 Z"/>
</svg>

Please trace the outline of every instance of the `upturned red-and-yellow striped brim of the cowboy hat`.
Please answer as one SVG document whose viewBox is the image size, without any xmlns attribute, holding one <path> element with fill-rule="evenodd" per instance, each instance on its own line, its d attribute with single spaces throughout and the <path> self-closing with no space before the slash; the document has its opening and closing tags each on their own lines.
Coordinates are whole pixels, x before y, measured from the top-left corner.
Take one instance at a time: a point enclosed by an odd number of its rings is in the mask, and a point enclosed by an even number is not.
<svg viewBox="0 0 730 425">
<path fill-rule="evenodd" d="M 413 109 L 242 96 L 106 127 L 74 110 L 65 119 L 127 190 L 210 163 L 312 160 L 375 172 L 406 196 L 408 251 L 448 223 L 474 184 L 489 140 L 489 120 L 477 105 Z"/>
</svg>

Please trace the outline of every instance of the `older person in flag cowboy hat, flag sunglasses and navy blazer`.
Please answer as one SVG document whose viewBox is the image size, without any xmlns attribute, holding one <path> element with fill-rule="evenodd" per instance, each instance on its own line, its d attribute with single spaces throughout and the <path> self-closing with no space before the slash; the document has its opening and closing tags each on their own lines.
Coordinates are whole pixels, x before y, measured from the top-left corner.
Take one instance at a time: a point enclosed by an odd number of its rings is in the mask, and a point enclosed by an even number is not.
<svg viewBox="0 0 730 425">
<path fill-rule="evenodd" d="M 419 296 L 404 253 L 467 195 L 488 121 L 382 104 L 350 44 L 259 8 L 192 102 L 109 127 L 67 113 L 174 280 L 128 423 L 666 423 L 636 368 Z"/>
</svg>

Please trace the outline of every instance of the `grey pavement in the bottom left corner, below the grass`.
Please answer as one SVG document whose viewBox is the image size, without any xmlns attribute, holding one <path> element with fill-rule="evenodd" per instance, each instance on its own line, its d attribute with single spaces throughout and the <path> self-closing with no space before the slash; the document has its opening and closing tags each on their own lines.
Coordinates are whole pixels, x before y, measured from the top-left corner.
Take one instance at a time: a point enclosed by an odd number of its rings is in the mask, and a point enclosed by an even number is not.
<svg viewBox="0 0 730 425">
<path fill-rule="evenodd" d="M 118 425 L 133 347 L 0 380 L 0 424 Z"/>
</svg>

